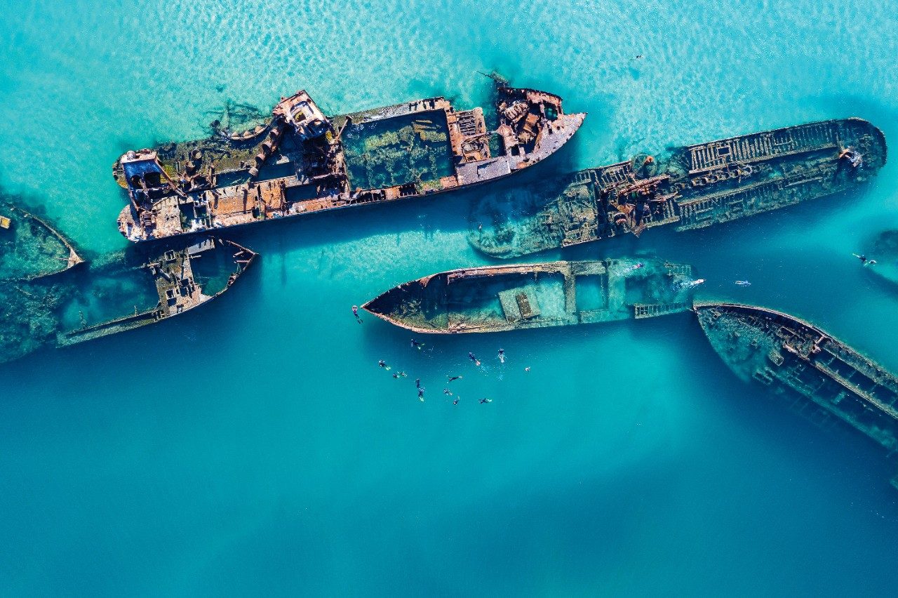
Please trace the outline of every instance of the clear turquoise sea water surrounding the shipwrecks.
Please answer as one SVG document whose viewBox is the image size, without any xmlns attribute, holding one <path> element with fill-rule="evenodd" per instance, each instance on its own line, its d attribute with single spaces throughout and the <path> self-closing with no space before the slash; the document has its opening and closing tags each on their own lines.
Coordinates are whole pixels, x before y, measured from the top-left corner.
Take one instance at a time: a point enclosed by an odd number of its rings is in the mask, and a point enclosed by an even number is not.
<svg viewBox="0 0 898 598">
<path fill-rule="evenodd" d="M 810 119 L 898 139 L 887 3 L 13 1 L 0 26 L 0 184 L 92 251 L 124 245 L 119 153 L 299 88 L 330 113 L 472 107 L 496 69 L 589 112 L 507 186 Z M 898 227 L 896 174 L 545 257 L 692 263 L 704 297 L 795 313 L 898 371 L 898 289 L 850 255 Z M 353 303 L 488 263 L 465 241 L 471 197 L 246 231 L 263 259 L 220 300 L 0 366 L 2 592 L 894 593 L 896 464 L 737 383 L 690 314 L 422 351 L 359 326 Z"/>
</svg>

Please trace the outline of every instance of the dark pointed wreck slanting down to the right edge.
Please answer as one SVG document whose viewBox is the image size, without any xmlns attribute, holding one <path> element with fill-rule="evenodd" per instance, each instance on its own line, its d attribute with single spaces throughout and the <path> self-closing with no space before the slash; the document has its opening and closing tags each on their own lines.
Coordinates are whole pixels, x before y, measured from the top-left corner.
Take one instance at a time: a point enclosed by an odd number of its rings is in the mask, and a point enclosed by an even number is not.
<svg viewBox="0 0 898 598">
<path fill-rule="evenodd" d="M 735 303 L 696 303 L 695 312 L 744 382 L 762 384 L 816 424 L 847 424 L 890 456 L 898 452 L 898 378 L 883 366 L 785 313 Z"/>
</svg>

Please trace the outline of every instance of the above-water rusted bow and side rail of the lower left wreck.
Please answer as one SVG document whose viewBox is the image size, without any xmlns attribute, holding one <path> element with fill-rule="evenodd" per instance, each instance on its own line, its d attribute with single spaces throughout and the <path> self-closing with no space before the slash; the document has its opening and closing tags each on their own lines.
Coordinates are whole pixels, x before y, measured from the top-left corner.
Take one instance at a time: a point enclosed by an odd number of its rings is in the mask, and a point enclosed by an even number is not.
<svg viewBox="0 0 898 598">
<path fill-rule="evenodd" d="M 74 330 L 60 332 L 57 345 L 133 330 L 187 312 L 224 293 L 255 258 L 255 252 L 235 242 L 211 237 L 180 250 L 164 251 L 140 268 L 145 279 L 140 290 L 152 289 L 150 296 L 158 299 L 154 306 L 141 310 L 135 305 L 134 313 L 98 324 L 84 321 Z M 134 298 L 128 295 L 121 299 Z"/>
</svg>

